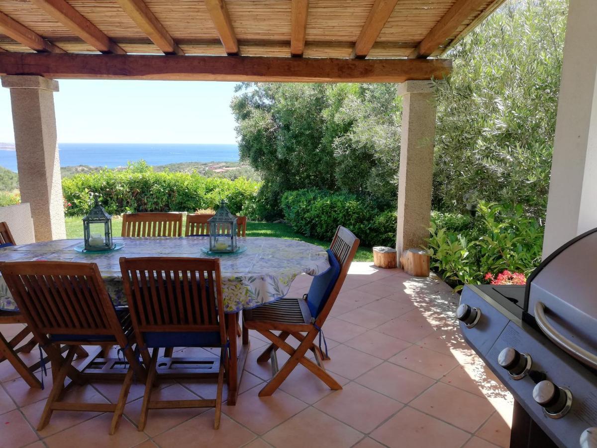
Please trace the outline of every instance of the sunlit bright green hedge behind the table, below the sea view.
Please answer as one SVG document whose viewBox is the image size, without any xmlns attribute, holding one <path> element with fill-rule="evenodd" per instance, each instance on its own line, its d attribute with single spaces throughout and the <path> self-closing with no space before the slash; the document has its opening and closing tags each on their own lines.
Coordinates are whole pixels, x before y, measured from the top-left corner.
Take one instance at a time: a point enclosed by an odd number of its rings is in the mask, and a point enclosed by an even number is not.
<svg viewBox="0 0 597 448">
<path fill-rule="evenodd" d="M 235 180 L 208 178 L 199 174 L 154 173 L 153 171 L 104 170 L 77 174 L 62 180 L 68 216 L 89 211 L 90 194 L 98 193 L 108 213 L 127 211 L 195 211 L 214 208 L 222 199 L 235 214 L 254 208 L 260 183 L 239 177 Z M 217 208 L 217 207 L 216 207 Z"/>
</svg>

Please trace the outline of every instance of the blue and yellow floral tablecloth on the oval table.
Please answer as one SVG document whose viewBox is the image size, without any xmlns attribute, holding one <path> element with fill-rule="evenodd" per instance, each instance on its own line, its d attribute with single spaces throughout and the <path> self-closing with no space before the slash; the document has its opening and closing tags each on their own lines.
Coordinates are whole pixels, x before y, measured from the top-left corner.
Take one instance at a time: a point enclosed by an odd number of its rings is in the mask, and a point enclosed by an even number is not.
<svg viewBox="0 0 597 448">
<path fill-rule="evenodd" d="M 62 260 L 94 262 L 99 266 L 108 293 L 115 305 L 126 305 L 122 288 L 120 257 L 177 256 L 210 257 L 202 251 L 207 237 L 114 238 L 124 243 L 109 253 L 80 253 L 81 240 L 55 240 L 0 249 L 0 261 Z M 303 272 L 316 275 L 330 267 L 319 246 L 282 238 L 238 238 L 247 250 L 220 256 L 225 312 L 254 308 L 284 297 L 294 278 Z M 5 281 L 0 277 L 0 309 L 17 309 Z"/>
</svg>

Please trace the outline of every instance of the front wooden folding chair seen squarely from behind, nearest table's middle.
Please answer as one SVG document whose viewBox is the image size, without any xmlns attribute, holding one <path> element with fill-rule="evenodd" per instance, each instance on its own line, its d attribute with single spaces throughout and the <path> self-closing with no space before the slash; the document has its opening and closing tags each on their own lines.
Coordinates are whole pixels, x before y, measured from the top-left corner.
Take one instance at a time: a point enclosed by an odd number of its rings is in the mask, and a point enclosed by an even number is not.
<svg viewBox="0 0 597 448">
<path fill-rule="evenodd" d="M 229 347 L 222 299 L 220 259 L 140 257 L 120 259 L 122 280 L 143 362 L 148 366 L 139 431 L 150 409 L 216 407 L 214 428 L 220 426 L 224 370 Z M 159 348 L 220 348 L 215 400 L 152 400 Z M 149 349 L 152 350 L 149 357 Z M 192 360 L 186 361 L 190 366 Z M 196 364 L 196 363 L 195 363 Z M 190 370 L 201 376 L 201 369 Z M 189 376 L 189 374 L 185 375 Z M 192 378 L 192 376 L 191 376 Z"/>
</svg>

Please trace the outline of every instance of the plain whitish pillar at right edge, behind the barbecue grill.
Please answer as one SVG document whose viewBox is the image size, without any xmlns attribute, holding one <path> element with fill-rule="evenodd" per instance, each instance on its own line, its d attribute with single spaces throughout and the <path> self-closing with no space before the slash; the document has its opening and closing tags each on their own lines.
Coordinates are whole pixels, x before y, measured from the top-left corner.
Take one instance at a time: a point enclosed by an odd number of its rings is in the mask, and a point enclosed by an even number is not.
<svg viewBox="0 0 597 448">
<path fill-rule="evenodd" d="M 597 227 L 595 17 L 595 0 L 570 0 L 543 257 Z"/>
</svg>

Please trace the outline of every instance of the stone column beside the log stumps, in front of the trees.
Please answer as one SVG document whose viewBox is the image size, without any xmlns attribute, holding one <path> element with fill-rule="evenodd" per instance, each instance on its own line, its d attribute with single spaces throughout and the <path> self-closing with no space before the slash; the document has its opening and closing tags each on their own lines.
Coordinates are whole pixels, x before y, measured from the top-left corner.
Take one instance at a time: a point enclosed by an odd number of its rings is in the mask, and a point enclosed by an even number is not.
<svg viewBox="0 0 597 448">
<path fill-rule="evenodd" d="M 402 96 L 402 137 L 398 179 L 396 251 L 421 247 L 429 237 L 436 104 L 432 81 L 406 81 Z"/>
</svg>

